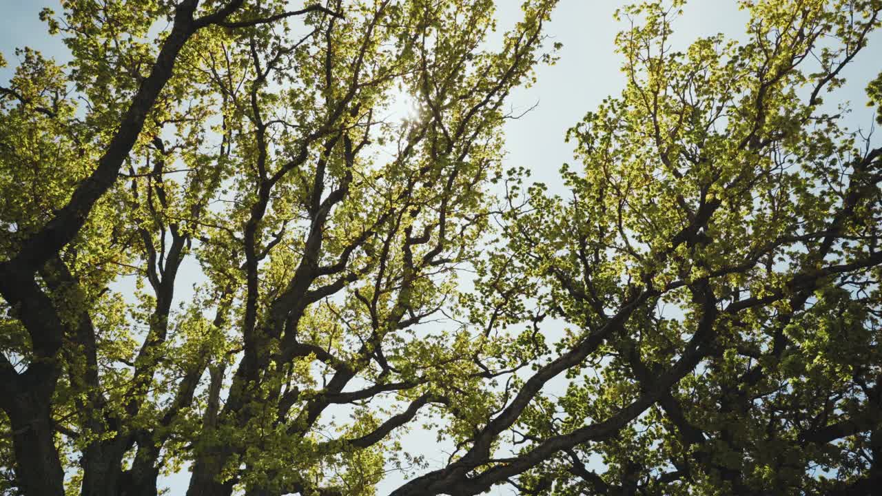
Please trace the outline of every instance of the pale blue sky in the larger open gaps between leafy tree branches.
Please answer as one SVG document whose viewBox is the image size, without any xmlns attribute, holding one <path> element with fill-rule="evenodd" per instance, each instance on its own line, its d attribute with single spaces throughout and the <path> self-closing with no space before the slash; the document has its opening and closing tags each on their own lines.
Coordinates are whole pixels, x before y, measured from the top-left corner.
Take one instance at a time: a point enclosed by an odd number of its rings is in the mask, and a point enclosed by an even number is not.
<svg viewBox="0 0 882 496">
<path fill-rule="evenodd" d="M 521 0 L 497 0 L 500 29 L 519 19 L 520 4 Z M 575 164 L 572 144 L 564 143 L 566 130 L 605 97 L 618 94 L 624 85 L 624 74 L 619 70 L 621 59 L 614 53 L 613 44 L 617 32 L 625 27 L 613 19 L 613 12 L 624 4 L 627 2 L 620 0 L 560 1 L 546 28 L 550 41 L 563 43 L 560 59 L 555 65 L 538 68 L 534 86 L 512 94 L 513 113 L 519 114 L 534 105 L 535 108 L 505 124 L 505 168 L 525 167 L 534 180 L 548 184 L 552 192 L 563 192 L 558 170 L 564 162 Z M 50 38 L 37 19 L 43 6 L 55 6 L 58 10 L 57 3 L 48 0 L 0 0 L 0 11 L 4 12 L 0 17 L 0 52 L 11 66 L 16 64 L 16 47 L 30 46 L 58 60 L 67 58 L 64 45 L 57 38 Z M 738 10 L 736 0 L 691 0 L 684 7 L 684 16 L 674 24 L 671 42 L 675 49 L 685 49 L 699 36 L 723 33 L 741 37 L 747 19 L 747 14 Z M 882 61 L 882 36 L 877 33 L 870 47 L 845 71 L 850 83 L 839 93 L 842 99 L 852 102 L 853 112 L 847 122 L 853 128 L 866 129 L 872 123 L 873 110 L 865 106 L 863 88 L 882 69 L 878 61 Z M 0 69 L 0 84 L 5 85 L 10 73 L 11 67 Z M 834 103 L 827 101 L 826 105 L 833 107 Z M 417 434 L 408 439 L 422 444 L 430 454 L 435 450 L 438 462 L 446 458 L 438 452 L 434 436 Z M 188 480 L 189 474 L 184 473 L 163 484 L 170 488 L 169 496 L 176 496 L 186 491 Z M 400 480 L 390 477 L 378 493 L 385 494 L 398 484 Z"/>
</svg>

